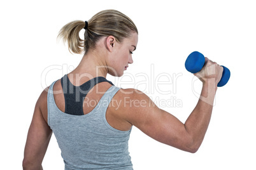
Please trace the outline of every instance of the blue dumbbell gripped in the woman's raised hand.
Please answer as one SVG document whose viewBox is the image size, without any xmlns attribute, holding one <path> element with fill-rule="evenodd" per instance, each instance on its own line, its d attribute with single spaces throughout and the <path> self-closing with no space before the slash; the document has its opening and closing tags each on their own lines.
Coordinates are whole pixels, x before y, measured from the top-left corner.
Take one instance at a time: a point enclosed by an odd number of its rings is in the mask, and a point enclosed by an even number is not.
<svg viewBox="0 0 256 170">
<path fill-rule="evenodd" d="M 188 58 L 185 62 L 185 67 L 188 70 L 188 72 L 197 73 L 204 67 L 204 55 L 194 51 L 190 55 L 188 55 Z M 223 73 L 222 78 L 220 79 L 220 82 L 218 82 L 217 86 L 222 87 L 229 81 L 229 77 L 231 77 L 231 72 L 227 67 L 223 67 Z"/>
</svg>

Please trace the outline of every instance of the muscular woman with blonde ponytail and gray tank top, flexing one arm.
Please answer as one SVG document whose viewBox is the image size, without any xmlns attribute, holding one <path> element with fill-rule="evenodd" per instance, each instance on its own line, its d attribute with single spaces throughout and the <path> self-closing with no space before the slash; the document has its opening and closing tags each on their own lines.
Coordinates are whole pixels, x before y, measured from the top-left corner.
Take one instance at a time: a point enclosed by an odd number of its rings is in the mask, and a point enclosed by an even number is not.
<svg viewBox="0 0 256 170">
<path fill-rule="evenodd" d="M 84 40 L 79 37 L 82 29 Z M 198 150 L 210 122 L 220 65 L 206 58 L 201 72 L 195 74 L 203 82 L 201 99 L 183 124 L 152 105 L 141 91 L 120 89 L 106 80 L 107 74 L 122 76 L 133 62 L 138 30 L 130 18 L 104 10 L 88 22 L 68 23 L 59 36 L 68 41 L 69 51 L 85 54 L 75 70 L 39 96 L 27 135 L 24 169 L 42 169 L 52 132 L 65 169 L 132 169 L 128 151 L 132 126 L 172 147 Z M 208 73 L 209 65 L 215 72 Z"/>
</svg>

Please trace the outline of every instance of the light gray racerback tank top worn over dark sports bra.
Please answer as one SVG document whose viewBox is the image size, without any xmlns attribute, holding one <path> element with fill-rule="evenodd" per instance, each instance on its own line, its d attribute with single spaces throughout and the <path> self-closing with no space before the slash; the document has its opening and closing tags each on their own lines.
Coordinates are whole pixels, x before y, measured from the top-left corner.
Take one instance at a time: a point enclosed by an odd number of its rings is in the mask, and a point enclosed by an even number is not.
<svg viewBox="0 0 256 170">
<path fill-rule="evenodd" d="M 132 169 L 128 151 L 131 133 L 120 131 L 106 121 L 106 110 L 120 88 L 111 86 L 96 107 L 85 115 L 59 110 L 53 97 L 53 85 L 47 96 L 48 125 L 55 134 L 66 170 Z"/>
</svg>

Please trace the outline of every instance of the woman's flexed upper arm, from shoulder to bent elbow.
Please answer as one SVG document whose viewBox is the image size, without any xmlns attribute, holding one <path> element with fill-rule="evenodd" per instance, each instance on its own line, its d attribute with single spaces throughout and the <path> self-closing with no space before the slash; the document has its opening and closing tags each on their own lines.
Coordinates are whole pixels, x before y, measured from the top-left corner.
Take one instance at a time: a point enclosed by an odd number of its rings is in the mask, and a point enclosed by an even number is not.
<svg viewBox="0 0 256 170">
<path fill-rule="evenodd" d="M 184 124 L 160 109 L 141 91 L 122 89 L 123 101 L 118 109 L 125 121 L 130 122 L 151 138 L 172 147 L 190 152 L 190 138 Z"/>
</svg>

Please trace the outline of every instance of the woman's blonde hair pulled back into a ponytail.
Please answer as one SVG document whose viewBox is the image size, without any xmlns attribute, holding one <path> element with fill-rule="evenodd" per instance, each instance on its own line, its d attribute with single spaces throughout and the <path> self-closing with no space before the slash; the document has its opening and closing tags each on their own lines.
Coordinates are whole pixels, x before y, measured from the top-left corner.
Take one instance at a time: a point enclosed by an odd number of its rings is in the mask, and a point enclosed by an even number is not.
<svg viewBox="0 0 256 170">
<path fill-rule="evenodd" d="M 71 53 L 81 54 L 96 47 L 97 41 L 103 36 L 114 36 L 117 42 L 131 36 L 132 32 L 138 34 L 138 29 L 132 20 L 117 10 L 104 10 L 88 20 L 84 40 L 79 37 L 79 32 L 85 27 L 85 22 L 75 20 L 60 29 L 58 37 L 68 42 Z"/>
</svg>

